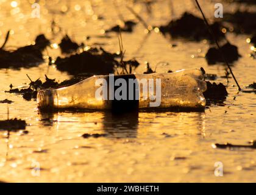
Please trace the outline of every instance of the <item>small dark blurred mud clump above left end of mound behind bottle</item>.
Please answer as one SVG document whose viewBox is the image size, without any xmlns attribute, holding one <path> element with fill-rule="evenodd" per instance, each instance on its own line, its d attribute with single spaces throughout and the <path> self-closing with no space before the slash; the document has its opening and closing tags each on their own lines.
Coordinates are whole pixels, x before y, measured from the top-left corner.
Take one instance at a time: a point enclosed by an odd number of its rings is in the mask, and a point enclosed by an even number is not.
<svg viewBox="0 0 256 195">
<path fill-rule="evenodd" d="M 84 46 L 84 43 L 77 44 L 76 42 L 72 41 L 68 35 L 65 35 L 65 37 L 62 38 L 62 41 L 59 44 L 60 50 L 63 54 L 69 54 L 71 52 L 76 51 L 78 48 Z"/>
</svg>

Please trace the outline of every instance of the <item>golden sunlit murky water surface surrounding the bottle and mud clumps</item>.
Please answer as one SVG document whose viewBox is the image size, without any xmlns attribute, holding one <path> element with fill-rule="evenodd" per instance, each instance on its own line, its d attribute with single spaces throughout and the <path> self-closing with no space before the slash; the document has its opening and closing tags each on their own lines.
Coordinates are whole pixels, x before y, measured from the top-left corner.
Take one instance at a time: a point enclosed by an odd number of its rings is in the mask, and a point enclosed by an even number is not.
<svg viewBox="0 0 256 195">
<path fill-rule="evenodd" d="M 0 1 L 1 43 L 7 30 L 12 35 L 7 47 L 30 44 L 45 33 L 52 43 L 59 43 L 67 32 L 77 42 L 101 44 L 107 51 L 116 52 L 118 37 L 101 38 L 103 29 L 118 23 L 118 12 L 125 19 L 135 19 L 126 9 L 130 5 L 144 20 L 157 26 L 166 24 L 184 11 L 199 15 L 193 1 L 162 0 L 152 4 L 148 13 L 142 1 L 39 1 L 40 19 L 31 18 L 34 1 L 20 0 L 11 7 L 11 1 Z M 214 16 L 214 2 L 202 1 L 208 18 Z M 15 5 L 15 3 L 12 3 Z M 225 11 L 238 5 L 224 4 Z M 240 5 L 241 9 L 246 9 Z M 249 7 L 254 9 L 255 7 Z M 51 21 L 57 35 L 52 35 Z M 90 40 L 87 40 L 90 36 Z M 256 81 L 256 61 L 248 57 L 249 35 L 227 34 L 242 55 L 233 66 L 240 85 Z M 141 63 L 148 61 L 157 71 L 182 68 L 200 68 L 207 73 L 224 76 L 224 66 L 208 66 L 204 54 L 208 44 L 184 40 L 168 40 L 157 32 L 146 34 L 138 24 L 132 34 L 123 34 L 126 58 L 136 57 Z M 176 47 L 171 47 L 177 44 Z M 52 57 L 60 55 L 59 49 L 49 49 Z M 45 52 L 47 55 L 47 52 Z M 145 65 L 146 66 L 146 65 Z M 137 72 L 145 70 L 141 65 Z M 213 149 L 212 143 L 246 144 L 256 140 L 256 95 L 237 93 L 230 79 L 229 96 L 224 106 L 212 105 L 204 113 L 140 112 L 113 116 L 106 112 L 41 114 L 35 101 L 24 101 L 21 96 L 4 93 L 12 83 L 14 87 L 27 87 L 29 80 L 44 78 L 47 74 L 57 80 L 68 79 L 54 66 L 43 64 L 30 69 L 0 70 L 0 100 L 10 99 L 10 118 L 25 119 L 29 133 L 0 132 L 0 180 L 5 182 L 256 182 L 256 151 L 251 149 Z M 218 77 L 217 82 L 226 83 Z M 234 97 L 235 100 L 234 100 Z M 0 118 L 7 118 L 7 104 L 0 104 Z M 50 120 L 41 120 L 49 118 Z M 84 133 L 106 133 L 107 137 L 82 138 Z M 216 177 L 215 162 L 224 165 L 224 176 Z M 34 168 L 40 168 L 40 171 Z"/>
</svg>

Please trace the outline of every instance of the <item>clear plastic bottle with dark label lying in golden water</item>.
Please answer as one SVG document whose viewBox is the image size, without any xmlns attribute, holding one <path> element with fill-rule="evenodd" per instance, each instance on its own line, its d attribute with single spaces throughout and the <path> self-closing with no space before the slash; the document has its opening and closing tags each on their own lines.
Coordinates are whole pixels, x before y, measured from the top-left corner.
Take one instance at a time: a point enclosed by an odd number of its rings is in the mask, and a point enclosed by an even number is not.
<svg viewBox="0 0 256 195">
<path fill-rule="evenodd" d="M 159 93 L 160 89 L 160 94 L 158 94 L 160 104 L 155 104 L 153 108 L 204 108 L 205 98 L 202 93 L 207 87 L 204 80 L 202 80 L 203 77 L 199 69 L 183 69 L 175 73 L 93 76 L 69 87 L 38 91 L 37 105 L 40 109 L 82 108 L 93 110 L 133 110 L 137 108 L 150 108 L 153 105 L 152 102 L 157 101 L 157 92 Z M 106 91 L 108 94 L 107 96 L 102 95 L 101 98 L 96 98 L 96 91 L 100 86 L 102 87 L 102 85 L 97 86 L 96 83 L 101 79 L 107 81 Z M 123 88 L 127 88 L 127 93 L 124 94 L 127 98 L 120 99 L 115 97 L 115 92 L 120 85 L 116 86 L 114 83 L 118 79 L 123 79 L 127 82 L 126 87 Z M 129 79 L 137 79 L 135 83 L 138 85 L 134 85 L 135 87 L 132 92 L 128 87 Z M 144 85 L 144 83 L 140 82 L 143 79 L 153 79 L 152 83 L 154 86 L 150 85 L 149 82 Z M 158 88 L 157 79 L 160 79 Z M 138 87 L 136 88 L 136 86 Z M 113 93 L 111 93 L 111 89 Z M 103 92 L 105 91 L 103 90 Z M 148 98 L 146 97 L 147 94 Z"/>
</svg>

